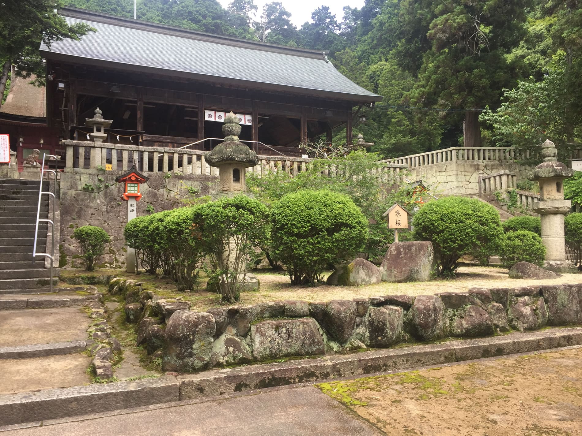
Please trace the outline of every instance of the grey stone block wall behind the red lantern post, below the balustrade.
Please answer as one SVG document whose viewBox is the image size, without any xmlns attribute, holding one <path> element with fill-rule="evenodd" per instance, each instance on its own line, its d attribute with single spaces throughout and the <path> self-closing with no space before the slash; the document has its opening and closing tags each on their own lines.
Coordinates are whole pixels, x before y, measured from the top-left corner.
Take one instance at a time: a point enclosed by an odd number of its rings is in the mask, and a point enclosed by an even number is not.
<svg viewBox="0 0 582 436">
<path fill-rule="evenodd" d="M 81 226 L 98 226 L 111 236 L 99 267 L 125 265 L 123 228 L 127 223 L 127 203 L 121 198 L 124 185 L 115 178 L 125 171 L 75 169 L 62 173 L 60 181 L 61 238 L 59 255 L 61 267 L 80 267 L 80 248 L 72 238 Z M 217 176 L 189 174 L 179 176 L 166 173 L 148 174 L 150 180 L 140 186 L 143 194 L 137 202 L 137 216 L 184 205 L 183 200 L 194 195 L 212 195 L 217 191 Z M 150 210 L 148 210 L 150 209 Z"/>
</svg>

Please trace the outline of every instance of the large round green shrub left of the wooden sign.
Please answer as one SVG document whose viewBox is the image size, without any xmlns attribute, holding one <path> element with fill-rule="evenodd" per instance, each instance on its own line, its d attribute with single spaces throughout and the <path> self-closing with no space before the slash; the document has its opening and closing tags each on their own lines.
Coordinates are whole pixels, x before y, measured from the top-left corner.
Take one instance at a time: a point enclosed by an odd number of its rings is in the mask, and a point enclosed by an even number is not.
<svg viewBox="0 0 582 436">
<path fill-rule="evenodd" d="M 271 210 L 274 255 L 292 284 L 319 281 L 326 266 L 352 258 L 364 246 L 368 220 L 346 195 L 297 191 Z"/>
</svg>

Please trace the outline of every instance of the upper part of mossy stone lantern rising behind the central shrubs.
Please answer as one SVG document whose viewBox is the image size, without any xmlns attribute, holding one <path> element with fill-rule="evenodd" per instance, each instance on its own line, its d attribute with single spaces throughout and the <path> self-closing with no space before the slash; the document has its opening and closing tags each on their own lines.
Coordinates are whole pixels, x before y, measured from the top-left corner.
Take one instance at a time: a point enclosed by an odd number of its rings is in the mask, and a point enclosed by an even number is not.
<svg viewBox="0 0 582 436">
<path fill-rule="evenodd" d="M 244 192 L 245 170 L 258 163 L 257 153 L 239 141 L 240 130 L 238 117 L 230 112 L 222 126 L 224 142 L 215 146 L 205 156 L 208 165 L 218 168 L 221 193 Z"/>
</svg>

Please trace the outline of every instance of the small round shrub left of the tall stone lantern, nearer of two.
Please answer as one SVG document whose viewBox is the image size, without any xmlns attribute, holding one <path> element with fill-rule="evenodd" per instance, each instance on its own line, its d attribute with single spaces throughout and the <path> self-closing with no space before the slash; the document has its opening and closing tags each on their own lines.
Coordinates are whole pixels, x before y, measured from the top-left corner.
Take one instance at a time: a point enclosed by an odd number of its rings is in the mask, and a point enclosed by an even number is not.
<svg viewBox="0 0 582 436">
<path fill-rule="evenodd" d="M 540 235 L 528 230 L 506 233 L 501 243 L 501 263 L 511 268 L 517 262 L 530 262 L 542 266 L 545 259 L 545 246 Z"/>
</svg>

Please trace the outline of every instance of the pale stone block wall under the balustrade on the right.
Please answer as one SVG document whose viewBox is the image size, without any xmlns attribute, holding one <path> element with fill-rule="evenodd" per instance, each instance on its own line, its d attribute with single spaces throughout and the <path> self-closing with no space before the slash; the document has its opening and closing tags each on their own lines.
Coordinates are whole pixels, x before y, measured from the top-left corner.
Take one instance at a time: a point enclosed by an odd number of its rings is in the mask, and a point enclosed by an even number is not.
<svg viewBox="0 0 582 436">
<path fill-rule="evenodd" d="M 479 173 L 485 175 L 502 170 L 517 174 L 517 180 L 526 180 L 533 166 L 516 162 L 495 162 L 487 160 L 480 163 L 443 162 L 433 165 L 413 167 L 410 180 L 423 180 L 431 188 L 433 195 L 477 195 L 479 194 Z"/>
</svg>

